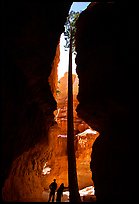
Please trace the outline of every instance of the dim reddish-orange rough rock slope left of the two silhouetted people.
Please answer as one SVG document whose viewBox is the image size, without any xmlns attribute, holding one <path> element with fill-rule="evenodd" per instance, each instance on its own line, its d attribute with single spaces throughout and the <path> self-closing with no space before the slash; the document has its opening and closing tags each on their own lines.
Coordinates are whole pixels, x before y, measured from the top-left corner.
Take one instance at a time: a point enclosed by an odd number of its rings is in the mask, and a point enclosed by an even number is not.
<svg viewBox="0 0 139 204">
<path fill-rule="evenodd" d="M 3 199 L 6 201 L 43 201 L 42 192 L 48 188 L 53 176 L 56 176 L 55 158 L 57 149 L 57 125 L 49 129 L 48 139 L 25 151 L 12 163 L 9 176 L 3 187 Z M 54 148 L 57 151 L 54 151 Z M 46 167 L 47 171 L 45 171 Z M 49 177 L 48 174 L 52 172 Z M 54 172 L 54 173 L 53 173 Z M 44 200 L 46 201 L 46 199 Z"/>
</svg>

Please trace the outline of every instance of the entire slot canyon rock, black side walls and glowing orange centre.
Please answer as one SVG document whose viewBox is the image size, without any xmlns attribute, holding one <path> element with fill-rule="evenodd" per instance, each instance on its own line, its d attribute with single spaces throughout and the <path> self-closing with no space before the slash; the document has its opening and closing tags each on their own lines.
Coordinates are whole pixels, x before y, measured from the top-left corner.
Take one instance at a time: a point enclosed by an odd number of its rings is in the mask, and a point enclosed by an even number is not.
<svg viewBox="0 0 139 204">
<path fill-rule="evenodd" d="M 58 64 L 72 3 L 2 3 L 4 202 L 47 202 L 54 178 L 58 186 L 68 186 L 68 73 L 58 78 Z M 133 202 L 137 197 L 134 6 L 128 10 L 122 1 L 90 3 L 76 24 L 77 176 L 79 190 L 92 186 L 94 194 L 95 189 L 97 200 L 87 200 L 94 203 Z"/>
</svg>

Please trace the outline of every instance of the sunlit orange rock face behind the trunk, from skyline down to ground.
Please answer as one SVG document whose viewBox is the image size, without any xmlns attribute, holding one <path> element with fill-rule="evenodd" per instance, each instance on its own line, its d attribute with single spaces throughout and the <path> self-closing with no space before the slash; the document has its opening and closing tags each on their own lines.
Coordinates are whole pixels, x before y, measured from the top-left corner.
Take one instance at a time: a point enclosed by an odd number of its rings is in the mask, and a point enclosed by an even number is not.
<svg viewBox="0 0 139 204">
<path fill-rule="evenodd" d="M 77 163 L 77 175 L 79 189 L 86 186 L 93 185 L 91 180 L 90 171 L 90 156 L 92 151 L 92 144 L 98 137 L 99 133 L 93 131 L 87 123 L 77 116 L 76 108 L 78 105 L 77 94 L 78 94 L 78 76 L 73 74 L 73 117 L 74 117 L 74 134 L 75 134 L 75 153 Z M 57 111 L 55 111 L 55 120 L 59 127 L 59 134 L 57 135 L 57 157 L 60 158 L 59 168 L 62 168 L 62 172 L 59 172 L 58 182 L 61 180 L 68 185 L 67 180 L 67 91 L 68 91 L 68 73 L 60 79 L 58 83 L 58 92 L 56 96 Z M 56 162 L 56 161 L 55 161 Z M 58 169 L 59 169 L 58 168 Z M 61 169 L 61 168 L 60 168 Z"/>
</svg>

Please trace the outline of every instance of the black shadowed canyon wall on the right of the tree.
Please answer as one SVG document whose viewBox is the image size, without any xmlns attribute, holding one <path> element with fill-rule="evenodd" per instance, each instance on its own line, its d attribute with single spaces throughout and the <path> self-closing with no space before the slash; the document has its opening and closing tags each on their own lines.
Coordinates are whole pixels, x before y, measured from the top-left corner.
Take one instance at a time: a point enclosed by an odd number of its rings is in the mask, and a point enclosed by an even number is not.
<svg viewBox="0 0 139 204">
<path fill-rule="evenodd" d="M 98 201 L 137 196 L 134 5 L 92 3 L 77 21 L 77 113 L 100 132 L 90 167 Z"/>
</svg>

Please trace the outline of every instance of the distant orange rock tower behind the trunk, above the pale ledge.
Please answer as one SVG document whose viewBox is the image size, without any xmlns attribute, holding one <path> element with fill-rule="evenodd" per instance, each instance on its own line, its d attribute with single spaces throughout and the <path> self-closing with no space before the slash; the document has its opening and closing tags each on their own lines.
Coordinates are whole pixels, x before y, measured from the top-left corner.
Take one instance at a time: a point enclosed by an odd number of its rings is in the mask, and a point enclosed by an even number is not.
<svg viewBox="0 0 139 204">
<path fill-rule="evenodd" d="M 73 74 L 73 117 L 74 117 L 74 131 L 75 134 L 80 130 L 83 132 L 88 128 L 88 125 L 84 123 L 82 119 L 77 116 L 76 108 L 78 105 L 78 76 Z M 60 79 L 58 84 L 58 93 L 56 97 L 57 111 L 55 112 L 56 121 L 61 128 L 61 134 L 67 134 L 67 101 L 68 101 L 68 73 L 65 72 L 64 76 Z M 81 126 L 84 128 L 81 128 Z M 78 128 L 79 127 L 79 128 Z"/>
</svg>

